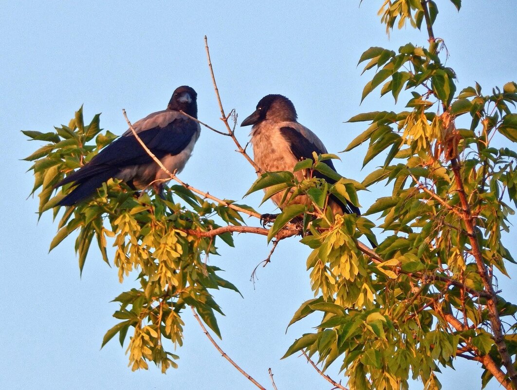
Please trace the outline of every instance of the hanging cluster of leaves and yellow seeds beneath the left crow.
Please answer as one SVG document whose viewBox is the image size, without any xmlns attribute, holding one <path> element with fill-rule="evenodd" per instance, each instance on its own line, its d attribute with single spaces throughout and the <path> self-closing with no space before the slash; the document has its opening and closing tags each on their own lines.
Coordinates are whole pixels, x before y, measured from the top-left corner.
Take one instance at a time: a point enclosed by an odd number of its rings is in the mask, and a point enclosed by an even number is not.
<svg viewBox="0 0 517 390">
<path fill-rule="evenodd" d="M 120 308 L 113 316 L 120 322 L 106 333 L 102 346 L 116 334 L 123 344 L 132 329 L 128 345 L 131 368 L 146 369 L 152 361 L 165 372 L 169 367 L 177 367 L 174 360 L 178 356 L 168 350 L 164 339 L 171 340 L 174 346 L 183 344 L 183 310 L 187 306 L 195 308 L 221 337 L 215 312 L 223 312 L 210 290 L 225 288 L 238 292 L 234 284 L 218 275 L 220 268 L 206 263 L 210 254 L 217 254 L 219 239 L 233 246 L 231 233 L 208 237 L 197 232 L 219 228 L 215 218 L 219 223 L 234 226 L 240 226 L 243 220 L 234 209 L 208 202 L 180 185 L 169 187 L 161 199 L 151 198 L 146 191 L 132 191 L 116 179 L 104 183 L 95 197 L 65 207 L 64 213 L 59 214 L 62 207 L 57 204 L 73 184 L 54 194 L 55 185 L 115 139 L 111 132 L 101 131 L 99 115 L 84 125 L 82 107 L 68 126 L 47 133 L 24 131 L 31 140 L 48 142 L 26 158 L 34 161 L 29 169 L 35 176 L 32 193 L 39 190 L 40 216 L 50 210 L 54 218 L 59 216 L 58 232 L 50 250 L 69 235 L 75 235 L 81 272 L 93 242 L 105 262 L 110 264 L 110 258 L 113 259 L 120 281 L 136 272 L 139 286 L 114 299 Z M 90 142 L 93 140 L 95 143 Z M 173 194 L 185 205 L 175 202 Z"/>
</svg>

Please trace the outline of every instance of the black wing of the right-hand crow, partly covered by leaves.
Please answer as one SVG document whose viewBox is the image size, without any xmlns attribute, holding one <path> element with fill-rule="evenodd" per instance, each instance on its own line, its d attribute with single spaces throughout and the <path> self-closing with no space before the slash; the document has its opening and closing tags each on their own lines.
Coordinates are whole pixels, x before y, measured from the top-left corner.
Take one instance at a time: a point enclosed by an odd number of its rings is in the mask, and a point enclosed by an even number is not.
<svg viewBox="0 0 517 390">
<path fill-rule="evenodd" d="M 303 134 L 295 129 L 294 127 L 284 126 L 280 128 L 280 133 L 287 140 L 287 142 L 291 146 L 291 153 L 296 157 L 297 160 L 313 158 L 312 152 L 316 152 L 316 154 L 325 154 L 327 153 L 321 147 L 318 147 L 314 142 L 307 139 Z M 333 171 L 336 171 L 334 168 L 334 164 L 332 160 L 324 160 L 323 163 L 327 164 Z M 317 178 L 323 178 L 329 184 L 336 183 L 336 180 L 324 175 L 321 172 L 314 171 L 314 176 Z M 356 215 L 361 215 L 359 208 L 354 206 L 351 202 L 346 201 L 346 204 L 343 204 L 338 198 L 331 195 L 331 198 L 341 205 L 343 208 L 343 212 L 347 214 L 355 213 Z"/>
</svg>

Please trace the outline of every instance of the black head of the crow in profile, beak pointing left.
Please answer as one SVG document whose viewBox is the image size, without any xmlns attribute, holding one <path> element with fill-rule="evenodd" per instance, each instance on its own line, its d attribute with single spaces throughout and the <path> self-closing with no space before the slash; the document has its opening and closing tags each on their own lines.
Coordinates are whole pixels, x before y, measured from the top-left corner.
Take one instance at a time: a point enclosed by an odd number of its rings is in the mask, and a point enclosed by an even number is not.
<svg viewBox="0 0 517 390">
<path fill-rule="evenodd" d="M 282 95 L 267 95 L 260 99 L 255 112 L 244 119 L 240 126 L 256 125 L 265 119 L 275 122 L 296 122 L 296 118 L 296 110 L 291 100 Z"/>
</svg>

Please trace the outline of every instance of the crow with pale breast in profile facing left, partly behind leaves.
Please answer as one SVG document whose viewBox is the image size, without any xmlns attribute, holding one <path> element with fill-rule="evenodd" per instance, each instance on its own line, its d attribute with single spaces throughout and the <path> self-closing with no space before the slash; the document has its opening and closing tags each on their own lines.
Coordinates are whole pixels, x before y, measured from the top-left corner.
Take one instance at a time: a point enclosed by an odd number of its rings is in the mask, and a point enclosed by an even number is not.
<svg viewBox="0 0 517 390">
<path fill-rule="evenodd" d="M 282 95 L 267 95 L 258 102 L 255 112 L 240 124 L 253 125 L 250 133 L 253 156 L 263 170 L 293 171 L 298 161 L 313 158 L 312 152 L 328 153 L 323 142 L 311 130 L 299 124 L 297 117 L 291 100 Z M 336 171 L 332 160 L 323 162 Z M 301 181 L 303 172 L 298 171 L 295 176 Z M 313 176 L 324 178 L 329 184 L 336 183 L 336 180 L 317 171 L 314 171 Z M 273 195 L 271 200 L 282 208 L 282 197 L 283 192 L 279 192 Z M 298 196 L 291 201 L 291 204 L 293 203 L 309 204 L 310 200 L 307 196 Z M 330 196 L 329 207 L 334 214 L 360 215 L 358 207 L 348 201 L 343 203 L 333 195 Z"/>
</svg>

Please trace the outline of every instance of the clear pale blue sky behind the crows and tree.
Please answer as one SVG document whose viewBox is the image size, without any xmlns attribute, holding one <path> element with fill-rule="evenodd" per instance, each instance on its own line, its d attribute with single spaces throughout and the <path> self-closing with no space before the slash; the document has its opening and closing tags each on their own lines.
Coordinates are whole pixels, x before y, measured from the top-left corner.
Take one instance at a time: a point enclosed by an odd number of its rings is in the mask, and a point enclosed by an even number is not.
<svg viewBox="0 0 517 390">
<path fill-rule="evenodd" d="M 30 164 L 20 161 L 40 144 L 27 142 L 20 130 L 50 131 L 67 124 L 84 103 L 85 121 L 102 112 L 101 127 L 121 134 L 127 127 L 123 108 L 134 122 L 164 109 L 174 88 L 183 84 L 198 93 L 200 119 L 222 129 L 206 64 L 207 35 L 224 107 L 237 110 L 239 124 L 264 95 L 283 94 L 295 104 L 299 122 L 336 153 L 364 129 L 343 123 L 349 117 L 393 109 L 392 98 L 379 99 L 378 92 L 359 107 L 363 85 L 373 76 L 360 76 L 361 53 L 371 46 L 423 46 L 426 35 L 408 27 L 388 39 L 376 16 L 382 2 L 373 0 L 360 7 L 357 0 L 106 3 L 0 6 L 0 387 L 253 389 L 212 347 L 189 311 L 183 316 L 185 344 L 176 351 L 179 368 L 166 375 L 151 365 L 148 371 L 131 372 L 125 348 L 115 339 L 99 350 L 104 333 L 117 321 L 112 313 L 118 305 L 110 301 L 131 288 L 134 278 L 120 285 L 116 269 L 94 246 L 80 278 L 71 237 L 48 254 L 57 226 L 50 215 L 38 223 L 38 199 L 26 199 L 33 186 L 33 177 L 25 173 Z M 437 0 L 434 27 L 447 44 L 447 65 L 458 74 L 458 89 L 478 81 L 491 91 L 516 81 L 515 1 L 463 3 L 458 13 L 449 1 Z M 241 142 L 248 132 L 238 128 Z M 180 177 L 220 198 L 241 200 L 255 174 L 234 149 L 230 139 L 202 129 Z M 361 181 L 375 167 L 374 161 L 360 170 L 364 152 L 361 147 L 342 154 L 338 171 Z M 363 209 L 388 192 L 378 186 L 360 193 Z M 245 201 L 256 206 L 261 197 L 257 193 Z M 273 212 L 274 206 L 267 202 L 260 210 Z M 513 237 L 507 236 L 506 245 L 515 256 Z M 218 319 L 221 347 L 268 388 L 269 367 L 279 390 L 331 388 L 305 358 L 279 360 L 295 338 L 318 323 L 317 316 L 309 317 L 285 334 L 295 310 L 313 296 L 305 271 L 310 249 L 296 238 L 282 241 L 253 285 L 250 274 L 269 252 L 266 238 L 246 235 L 235 241 L 236 248 L 222 246 L 222 256 L 210 258 L 244 295 L 215 292 L 226 314 Z M 510 264 L 509 272 L 515 271 Z M 500 278 L 499 286 L 517 301 L 514 282 Z M 439 376 L 444 389 L 480 387 L 476 363 L 458 361 L 455 367 Z M 339 364 L 332 366 L 329 373 L 339 379 L 338 369 Z M 422 384 L 413 382 L 411 388 Z M 488 388 L 499 386 L 492 381 Z"/>
</svg>

